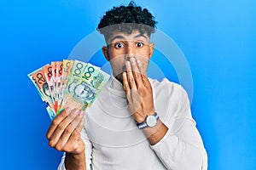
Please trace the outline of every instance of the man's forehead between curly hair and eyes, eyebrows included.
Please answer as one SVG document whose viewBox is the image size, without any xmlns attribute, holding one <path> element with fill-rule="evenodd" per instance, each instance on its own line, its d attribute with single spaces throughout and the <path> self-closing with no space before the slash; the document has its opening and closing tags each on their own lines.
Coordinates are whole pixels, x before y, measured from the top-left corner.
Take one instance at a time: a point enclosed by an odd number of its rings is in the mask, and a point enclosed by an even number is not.
<svg viewBox="0 0 256 170">
<path fill-rule="evenodd" d="M 134 41 L 134 40 L 142 40 L 148 42 L 150 37 L 148 37 L 148 34 L 146 32 L 141 32 L 141 31 L 132 31 L 130 33 L 122 32 L 122 31 L 116 31 L 108 37 L 108 44 L 112 42 L 116 42 L 119 40 L 125 40 L 125 41 Z"/>
</svg>

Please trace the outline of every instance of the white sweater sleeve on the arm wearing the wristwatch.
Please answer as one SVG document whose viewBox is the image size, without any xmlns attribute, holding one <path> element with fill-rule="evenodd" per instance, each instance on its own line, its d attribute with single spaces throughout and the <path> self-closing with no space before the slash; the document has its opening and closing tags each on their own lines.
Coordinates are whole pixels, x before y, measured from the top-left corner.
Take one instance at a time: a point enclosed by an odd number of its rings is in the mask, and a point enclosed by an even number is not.
<svg viewBox="0 0 256 170">
<path fill-rule="evenodd" d="M 150 147 L 167 169 L 207 170 L 207 152 L 191 116 L 188 96 L 183 88 L 178 95 L 175 116 L 164 122 L 169 128 L 166 135 Z"/>
</svg>

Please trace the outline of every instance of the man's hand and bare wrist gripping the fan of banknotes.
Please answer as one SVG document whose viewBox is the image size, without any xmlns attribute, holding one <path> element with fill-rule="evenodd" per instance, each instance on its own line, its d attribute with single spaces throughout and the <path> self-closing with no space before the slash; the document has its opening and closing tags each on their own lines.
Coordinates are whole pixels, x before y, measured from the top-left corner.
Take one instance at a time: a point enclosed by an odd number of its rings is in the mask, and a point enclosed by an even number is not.
<svg viewBox="0 0 256 170">
<path fill-rule="evenodd" d="M 80 136 L 83 126 L 84 111 L 70 108 L 61 111 L 49 126 L 49 146 L 66 152 L 66 169 L 86 169 L 85 145 Z"/>
</svg>

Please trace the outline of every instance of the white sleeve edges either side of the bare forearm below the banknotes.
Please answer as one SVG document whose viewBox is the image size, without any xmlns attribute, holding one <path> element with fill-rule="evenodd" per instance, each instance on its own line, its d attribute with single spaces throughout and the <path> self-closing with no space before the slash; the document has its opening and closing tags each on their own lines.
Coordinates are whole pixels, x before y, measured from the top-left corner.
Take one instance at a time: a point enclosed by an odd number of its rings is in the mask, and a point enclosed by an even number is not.
<svg viewBox="0 0 256 170">
<path fill-rule="evenodd" d="M 85 131 L 85 128 L 82 129 L 81 131 L 81 138 L 84 141 L 85 144 L 85 162 L 86 162 L 86 169 L 91 170 L 91 152 L 92 152 L 92 144 L 90 143 L 90 140 L 87 136 L 87 133 Z M 65 168 L 65 155 L 66 153 L 64 152 L 61 162 L 59 164 L 58 170 L 66 170 Z"/>
</svg>

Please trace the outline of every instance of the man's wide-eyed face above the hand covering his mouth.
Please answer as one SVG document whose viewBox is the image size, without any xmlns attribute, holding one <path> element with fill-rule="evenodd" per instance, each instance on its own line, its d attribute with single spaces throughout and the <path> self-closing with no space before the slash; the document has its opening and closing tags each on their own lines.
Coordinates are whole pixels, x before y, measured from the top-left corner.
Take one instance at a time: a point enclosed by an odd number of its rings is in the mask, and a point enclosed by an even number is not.
<svg viewBox="0 0 256 170">
<path fill-rule="evenodd" d="M 140 60 L 143 65 L 142 73 L 148 69 L 148 59 L 153 54 L 154 43 L 149 43 L 150 37 L 147 33 L 132 31 L 131 34 L 116 32 L 108 38 L 108 47 L 102 51 L 106 59 L 110 61 L 113 76 L 122 82 L 122 73 L 126 71 L 125 62 L 132 57 Z"/>
</svg>

